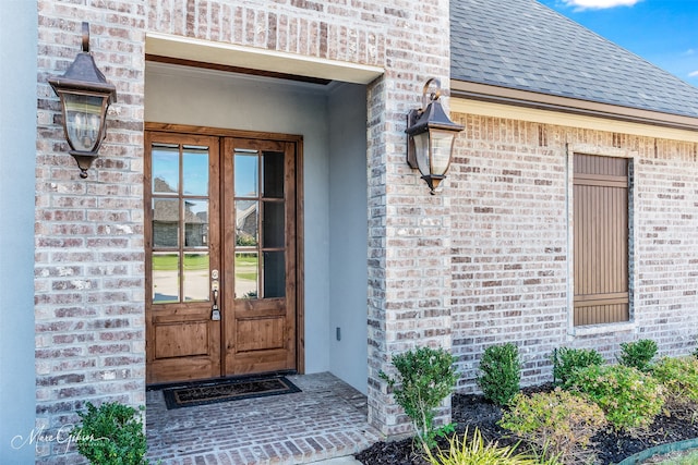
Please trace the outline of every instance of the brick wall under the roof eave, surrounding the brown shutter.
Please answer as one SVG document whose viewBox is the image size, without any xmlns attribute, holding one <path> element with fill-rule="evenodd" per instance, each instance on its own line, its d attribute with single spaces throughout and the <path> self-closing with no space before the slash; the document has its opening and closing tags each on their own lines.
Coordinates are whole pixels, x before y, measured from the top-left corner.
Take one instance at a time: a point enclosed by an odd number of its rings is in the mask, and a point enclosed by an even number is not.
<svg viewBox="0 0 698 465">
<path fill-rule="evenodd" d="M 514 342 L 526 384 L 552 380 L 559 346 L 613 360 L 621 342 L 650 338 L 660 354 L 698 335 L 697 144 L 516 120 L 453 115 L 466 125 L 446 192 L 452 203 L 452 320 L 461 391 L 477 390 L 484 348 Z M 574 330 L 568 195 L 571 151 L 630 157 L 631 323 Z"/>
</svg>

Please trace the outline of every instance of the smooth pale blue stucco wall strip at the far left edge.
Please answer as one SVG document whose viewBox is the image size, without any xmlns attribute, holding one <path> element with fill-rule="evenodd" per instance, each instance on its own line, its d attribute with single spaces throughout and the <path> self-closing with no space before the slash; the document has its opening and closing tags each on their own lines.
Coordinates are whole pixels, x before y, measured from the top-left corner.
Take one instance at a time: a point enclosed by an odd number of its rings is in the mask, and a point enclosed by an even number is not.
<svg viewBox="0 0 698 465">
<path fill-rule="evenodd" d="M 36 1 L 0 9 L 0 463 L 34 461 Z"/>
</svg>

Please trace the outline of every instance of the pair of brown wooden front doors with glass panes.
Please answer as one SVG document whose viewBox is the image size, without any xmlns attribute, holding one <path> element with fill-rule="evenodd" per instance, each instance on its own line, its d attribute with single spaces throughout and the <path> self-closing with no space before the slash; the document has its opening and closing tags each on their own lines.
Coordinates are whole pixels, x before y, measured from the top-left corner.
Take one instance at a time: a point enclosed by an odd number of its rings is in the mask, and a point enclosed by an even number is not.
<svg viewBox="0 0 698 465">
<path fill-rule="evenodd" d="M 297 368 L 297 144 L 146 132 L 147 382 Z"/>
</svg>

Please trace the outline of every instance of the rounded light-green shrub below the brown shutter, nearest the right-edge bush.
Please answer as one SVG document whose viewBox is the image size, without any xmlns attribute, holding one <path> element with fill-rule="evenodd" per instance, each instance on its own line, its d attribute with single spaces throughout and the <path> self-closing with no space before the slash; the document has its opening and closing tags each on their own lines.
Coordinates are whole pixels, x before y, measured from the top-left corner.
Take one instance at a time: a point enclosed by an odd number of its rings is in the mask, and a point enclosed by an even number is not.
<svg viewBox="0 0 698 465">
<path fill-rule="evenodd" d="M 570 383 L 599 405 L 616 429 L 647 427 L 664 405 L 659 381 L 633 367 L 592 365 L 576 370 Z"/>
</svg>

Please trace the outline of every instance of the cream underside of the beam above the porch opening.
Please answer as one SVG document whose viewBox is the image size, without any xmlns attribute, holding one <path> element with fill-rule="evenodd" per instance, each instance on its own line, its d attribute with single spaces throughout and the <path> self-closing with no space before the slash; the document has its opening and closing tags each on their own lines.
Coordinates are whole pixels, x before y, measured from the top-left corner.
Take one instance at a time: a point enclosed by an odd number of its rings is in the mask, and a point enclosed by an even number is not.
<svg viewBox="0 0 698 465">
<path fill-rule="evenodd" d="M 296 74 L 299 76 L 353 84 L 369 84 L 376 77 L 383 75 L 384 72 L 384 70 L 378 66 L 304 57 L 282 51 L 243 47 L 233 44 L 215 42 L 160 33 L 146 34 L 145 52 L 147 54 L 182 60 Z"/>
</svg>

